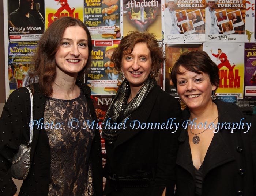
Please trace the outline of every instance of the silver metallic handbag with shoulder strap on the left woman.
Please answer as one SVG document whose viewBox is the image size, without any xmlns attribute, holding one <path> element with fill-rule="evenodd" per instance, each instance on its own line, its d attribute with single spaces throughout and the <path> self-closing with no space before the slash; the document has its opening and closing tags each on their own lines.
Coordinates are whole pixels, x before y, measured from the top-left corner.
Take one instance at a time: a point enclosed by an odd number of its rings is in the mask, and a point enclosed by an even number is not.
<svg viewBox="0 0 256 196">
<path fill-rule="evenodd" d="M 20 144 L 18 153 L 12 158 L 12 165 L 10 168 L 11 175 L 15 179 L 25 180 L 29 173 L 30 166 L 30 149 L 32 143 L 32 122 L 33 122 L 33 96 L 29 87 L 26 87 L 30 94 L 30 136 L 29 144 Z"/>
</svg>

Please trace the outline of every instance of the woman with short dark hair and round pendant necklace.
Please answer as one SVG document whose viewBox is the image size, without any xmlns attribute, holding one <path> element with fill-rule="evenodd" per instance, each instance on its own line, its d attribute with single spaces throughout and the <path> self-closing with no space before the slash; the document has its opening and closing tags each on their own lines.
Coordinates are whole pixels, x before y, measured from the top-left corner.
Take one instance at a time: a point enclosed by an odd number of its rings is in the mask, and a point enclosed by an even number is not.
<svg viewBox="0 0 256 196">
<path fill-rule="evenodd" d="M 171 72 L 180 99 L 187 105 L 178 139 L 177 196 L 256 194 L 255 128 L 248 121 L 244 127 L 232 128 L 246 121 L 237 105 L 216 99 L 218 72 L 204 51 L 182 54 Z"/>
</svg>

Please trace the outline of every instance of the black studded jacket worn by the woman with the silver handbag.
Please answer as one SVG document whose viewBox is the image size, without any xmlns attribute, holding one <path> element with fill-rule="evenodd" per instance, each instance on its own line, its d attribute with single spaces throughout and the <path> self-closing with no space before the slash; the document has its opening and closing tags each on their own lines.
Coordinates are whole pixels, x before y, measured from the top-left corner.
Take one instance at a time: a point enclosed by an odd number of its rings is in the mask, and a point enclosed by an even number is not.
<svg viewBox="0 0 256 196">
<path fill-rule="evenodd" d="M 82 82 L 76 83 L 84 92 L 92 119 L 97 119 L 90 89 Z M 46 97 L 34 84 L 34 120 L 44 118 Z M 0 119 L 0 196 L 13 196 L 17 187 L 8 172 L 13 155 L 19 145 L 29 141 L 30 95 L 26 88 L 19 88 L 10 94 Z M 41 120 L 44 124 L 44 121 Z M 31 164 L 27 178 L 23 181 L 19 195 L 48 196 L 50 182 L 50 146 L 44 128 L 33 129 Z M 99 130 L 96 130 L 91 148 L 93 185 L 95 196 L 102 196 L 102 157 Z"/>
</svg>

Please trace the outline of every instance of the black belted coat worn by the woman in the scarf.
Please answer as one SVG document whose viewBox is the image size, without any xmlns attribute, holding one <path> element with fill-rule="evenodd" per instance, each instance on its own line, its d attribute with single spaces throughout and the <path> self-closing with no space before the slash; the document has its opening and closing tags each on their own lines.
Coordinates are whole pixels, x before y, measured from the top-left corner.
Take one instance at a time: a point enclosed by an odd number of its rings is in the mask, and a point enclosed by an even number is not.
<svg viewBox="0 0 256 196">
<path fill-rule="evenodd" d="M 179 129 L 131 129 L 129 123 L 133 120 L 143 122 L 166 123 L 169 118 L 181 120 L 181 107 L 177 99 L 167 94 L 159 86 L 155 86 L 142 105 L 130 115 L 127 128 L 121 130 L 115 145 L 106 143 L 107 161 L 104 175 L 107 178 L 104 193 L 118 195 L 108 176 L 116 174 L 118 177 L 138 175 L 152 172 L 153 180 L 150 187 L 123 188 L 120 195 L 147 196 L 161 195 L 167 187 L 173 195 L 174 165 L 178 149 Z M 167 190 L 167 194 L 168 194 Z"/>
</svg>

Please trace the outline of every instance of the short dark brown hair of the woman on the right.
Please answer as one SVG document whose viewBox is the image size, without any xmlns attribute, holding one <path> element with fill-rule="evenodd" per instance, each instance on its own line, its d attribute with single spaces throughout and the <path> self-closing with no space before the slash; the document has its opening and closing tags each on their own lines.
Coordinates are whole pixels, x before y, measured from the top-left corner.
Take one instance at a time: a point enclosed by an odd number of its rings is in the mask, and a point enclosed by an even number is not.
<svg viewBox="0 0 256 196">
<path fill-rule="evenodd" d="M 195 72 L 197 74 L 202 74 L 202 72 L 208 74 L 212 85 L 215 85 L 218 88 L 219 69 L 217 64 L 211 60 L 206 52 L 199 50 L 184 52 L 182 55 L 180 55 L 180 57 L 176 60 L 171 72 L 173 85 L 176 88 L 177 74 L 184 74 L 179 70 L 180 66 L 183 66 L 186 70 Z"/>
</svg>

